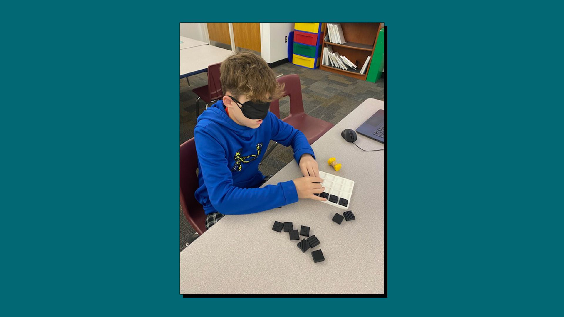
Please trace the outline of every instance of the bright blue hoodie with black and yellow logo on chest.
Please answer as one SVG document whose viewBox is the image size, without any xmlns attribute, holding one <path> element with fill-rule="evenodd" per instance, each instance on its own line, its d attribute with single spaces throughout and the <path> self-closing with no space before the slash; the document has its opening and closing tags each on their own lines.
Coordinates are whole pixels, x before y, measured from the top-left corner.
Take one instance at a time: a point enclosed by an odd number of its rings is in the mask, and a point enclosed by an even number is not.
<svg viewBox="0 0 564 317">
<path fill-rule="evenodd" d="M 315 158 L 305 135 L 274 113 L 268 112 L 262 124 L 252 129 L 236 124 L 222 100 L 198 117 L 194 138 L 200 186 L 195 197 L 206 214 L 250 214 L 298 201 L 292 180 L 257 188 L 265 178 L 258 164 L 270 140 L 292 146 L 298 164 L 305 153 Z"/>
</svg>

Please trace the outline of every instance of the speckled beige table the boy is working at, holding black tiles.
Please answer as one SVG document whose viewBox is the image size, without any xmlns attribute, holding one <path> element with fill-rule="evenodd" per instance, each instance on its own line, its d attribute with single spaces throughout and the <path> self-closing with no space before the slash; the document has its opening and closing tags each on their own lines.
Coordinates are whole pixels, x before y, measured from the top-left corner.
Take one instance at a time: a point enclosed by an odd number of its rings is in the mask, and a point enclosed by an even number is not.
<svg viewBox="0 0 564 317">
<path fill-rule="evenodd" d="M 319 169 L 355 182 L 349 209 L 356 219 L 337 224 L 346 210 L 301 199 L 265 212 L 226 215 L 180 252 L 180 294 L 383 294 L 384 293 L 384 151 L 364 152 L 341 137 L 356 129 L 384 102 L 367 99 L 319 138 L 314 149 Z M 384 144 L 358 135 L 364 149 Z M 327 160 L 342 164 L 335 171 Z M 302 177 L 293 160 L 268 184 Z M 274 221 L 310 227 L 320 244 L 302 253 L 299 240 L 272 230 Z M 311 251 L 325 261 L 314 263 Z"/>
</svg>

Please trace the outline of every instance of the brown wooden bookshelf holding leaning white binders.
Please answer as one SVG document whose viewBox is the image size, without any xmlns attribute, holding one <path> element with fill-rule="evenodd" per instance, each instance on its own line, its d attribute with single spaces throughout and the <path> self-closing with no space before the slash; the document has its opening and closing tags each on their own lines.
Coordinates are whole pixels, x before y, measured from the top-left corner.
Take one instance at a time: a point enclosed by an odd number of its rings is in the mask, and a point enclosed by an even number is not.
<svg viewBox="0 0 564 317">
<path fill-rule="evenodd" d="M 380 33 L 380 29 L 383 27 L 383 23 L 341 22 L 341 28 L 343 29 L 343 36 L 345 37 L 346 43 L 337 44 L 323 40 L 320 58 L 323 58 L 323 49 L 325 46 L 331 45 L 334 52 L 338 52 L 340 55 L 346 56 L 347 59 L 356 65 L 358 70 L 355 71 L 354 68 L 349 67 L 349 69 L 345 71 L 341 68 L 335 68 L 331 65 L 328 66 L 323 64 L 320 64 L 319 68 L 323 71 L 342 74 L 359 80 L 366 80 L 366 77 L 368 76 L 368 69 L 370 69 L 370 64 L 372 63 L 374 49 L 376 48 L 378 34 Z M 325 23 L 322 36 L 325 38 L 326 34 L 328 34 L 327 23 Z M 362 69 L 362 65 L 364 65 L 364 61 L 368 56 L 371 56 L 371 58 L 368 61 L 366 72 L 361 75 L 360 69 Z"/>
</svg>

